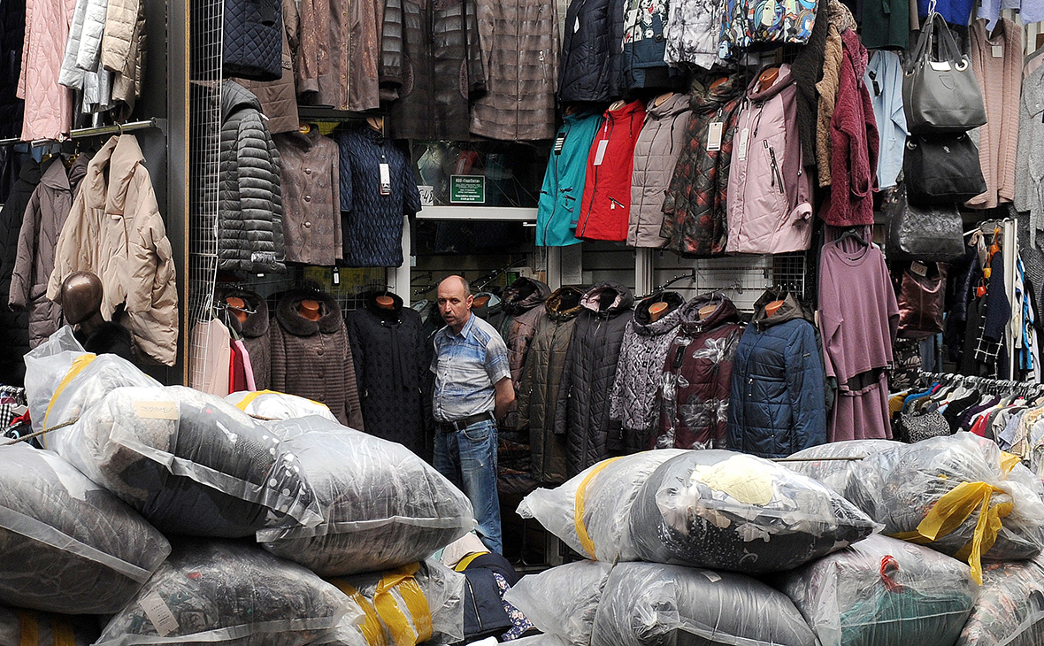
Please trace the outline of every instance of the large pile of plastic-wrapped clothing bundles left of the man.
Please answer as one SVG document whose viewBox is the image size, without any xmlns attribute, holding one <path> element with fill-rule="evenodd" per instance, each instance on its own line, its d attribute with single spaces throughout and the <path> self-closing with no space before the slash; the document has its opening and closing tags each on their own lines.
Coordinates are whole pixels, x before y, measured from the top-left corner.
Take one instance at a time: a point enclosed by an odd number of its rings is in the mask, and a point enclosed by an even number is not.
<svg viewBox="0 0 1044 646">
<path fill-rule="evenodd" d="M 0 447 L 0 644 L 452 644 L 468 499 L 290 396 L 164 387 L 66 328 Z M 73 617 L 75 616 L 75 617 Z M 91 617 L 98 616 L 98 617 Z"/>
</svg>

